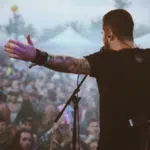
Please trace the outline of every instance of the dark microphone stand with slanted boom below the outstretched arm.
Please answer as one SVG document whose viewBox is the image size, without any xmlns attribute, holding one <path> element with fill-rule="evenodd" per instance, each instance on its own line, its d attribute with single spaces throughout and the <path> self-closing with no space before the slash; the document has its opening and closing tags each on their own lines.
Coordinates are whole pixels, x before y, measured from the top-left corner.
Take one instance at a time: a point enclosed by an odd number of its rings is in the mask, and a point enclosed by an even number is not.
<svg viewBox="0 0 150 150">
<path fill-rule="evenodd" d="M 76 117 L 77 117 L 77 110 L 78 110 L 78 102 L 80 101 L 80 98 L 77 98 L 76 94 L 80 91 L 80 87 L 81 87 L 82 83 L 84 82 L 84 80 L 86 79 L 87 76 L 88 75 L 84 76 L 84 78 L 81 80 L 81 82 L 79 83 L 77 88 L 73 91 L 73 93 L 72 93 L 71 97 L 69 98 L 69 100 L 66 102 L 66 104 L 65 104 L 64 108 L 62 109 L 62 111 L 58 114 L 58 116 L 54 120 L 54 124 L 56 124 L 58 122 L 58 120 L 60 119 L 60 117 L 62 116 L 63 112 L 65 111 L 66 107 L 72 101 L 73 104 L 74 104 L 74 123 L 73 123 L 73 140 L 72 140 L 73 150 L 76 150 L 76 141 L 77 141 Z"/>
</svg>

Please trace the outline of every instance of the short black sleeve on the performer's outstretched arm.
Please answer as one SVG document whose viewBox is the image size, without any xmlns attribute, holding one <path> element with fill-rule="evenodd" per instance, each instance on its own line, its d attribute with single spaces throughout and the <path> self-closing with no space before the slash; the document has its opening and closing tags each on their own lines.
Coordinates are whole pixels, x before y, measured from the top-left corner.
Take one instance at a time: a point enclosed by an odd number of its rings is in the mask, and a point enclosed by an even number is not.
<svg viewBox="0 0 150 150">
<path fill-rule="evenodd" d="M 102 65 L 101 61 L 102 61 L 102 52 L 96 52 L 93 54 L 90 54 L 88 56 L 84 56 L 85 59 L 88 60 L 90 67 L 91 67 L 91 71 L 90 71 L 90 76 L 91 77 L 97 77 L 99 75 L 100 72 L 100 66 Z"/>
</svg>

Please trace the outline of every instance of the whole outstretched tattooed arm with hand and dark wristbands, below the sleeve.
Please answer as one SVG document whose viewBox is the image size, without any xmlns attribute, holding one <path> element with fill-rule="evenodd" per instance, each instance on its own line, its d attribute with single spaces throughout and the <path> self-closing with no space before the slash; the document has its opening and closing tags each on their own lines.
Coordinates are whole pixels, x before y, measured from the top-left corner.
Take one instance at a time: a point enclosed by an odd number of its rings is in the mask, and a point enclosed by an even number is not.
<svg viewBox="0 0 150 150">
<path fill-rule="evenodd" d="M 29 39 L 28 39 L 29 40 Z M 90 64 L 86 58 L 73 58 L 69 56 L 49 55 L 50 60 L 45 52 L 36 49 L 29 40 L 27 44 L 19 41 L 9 40 L 5 45 L 5 51 L 10 58 L 15 58 L 23 61 L 30 61 L 38 65 L 44 65 L 47 68 L 55 71 L 75 73 L 75 74 L 89 74 Z M 44 61 L 43 61 L 44 60 Z M 30 66 L 30 68 L 32 65 Z"/>
</svg>

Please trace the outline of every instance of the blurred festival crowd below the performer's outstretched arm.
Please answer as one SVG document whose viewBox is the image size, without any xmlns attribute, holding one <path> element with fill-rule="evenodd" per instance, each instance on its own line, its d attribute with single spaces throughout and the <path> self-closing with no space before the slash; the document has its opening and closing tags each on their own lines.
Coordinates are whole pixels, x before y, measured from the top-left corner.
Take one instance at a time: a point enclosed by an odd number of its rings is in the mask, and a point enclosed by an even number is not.
<svg viewBox="0 0 150 150">
<path fill-rule="evenodd" d="M 77 76 L 28 65 L 16 60 L 0 65 L 0 150 L 71 150 L 73 104 L 57 124 L 53 121 L 76 88 Z M 96 150 L 99 95 L 93 79 L 86 79 L 78 96 L 77 148 Z"/>
</svg>

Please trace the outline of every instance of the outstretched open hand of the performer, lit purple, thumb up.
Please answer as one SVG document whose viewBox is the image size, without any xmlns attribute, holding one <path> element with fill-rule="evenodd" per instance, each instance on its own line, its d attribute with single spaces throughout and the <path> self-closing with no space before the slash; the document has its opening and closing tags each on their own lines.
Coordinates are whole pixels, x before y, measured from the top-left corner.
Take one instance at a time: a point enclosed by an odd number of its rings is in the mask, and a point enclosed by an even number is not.
<svg viewBox="0 0 150 150">
<path fill-rule="evenodd" d="M 36 57 L 36 48 L 33 46 L 29 35 L 27 36 L 27 41 L 28 44 L 23 44 L 19 41 L 9 40 L 4 46 L 4 50 L 10 58 L 33 61 Z"/>
</svg>

